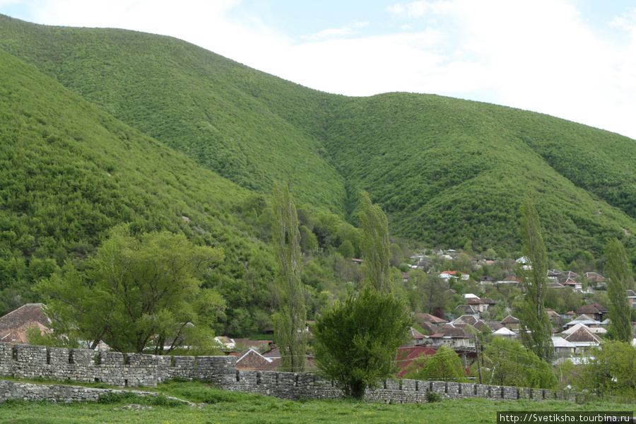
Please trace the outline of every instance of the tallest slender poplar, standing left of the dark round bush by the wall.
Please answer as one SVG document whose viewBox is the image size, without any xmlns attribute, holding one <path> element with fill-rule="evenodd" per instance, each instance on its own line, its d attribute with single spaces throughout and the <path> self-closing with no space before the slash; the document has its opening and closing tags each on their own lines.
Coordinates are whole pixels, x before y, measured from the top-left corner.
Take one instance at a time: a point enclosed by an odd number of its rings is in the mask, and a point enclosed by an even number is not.
<svg viewBox="0 0 636 424">
<path fill-rule="evenodd" d="M 278 261 L 278 312 L 273 321 L 281 350 L 281 370 L 305 370 L 307 336 L 305 296 L 300 281 L 300 231 L 296 204 L 287 186 L 274 185 L 273 247 Z"/>
</svg>

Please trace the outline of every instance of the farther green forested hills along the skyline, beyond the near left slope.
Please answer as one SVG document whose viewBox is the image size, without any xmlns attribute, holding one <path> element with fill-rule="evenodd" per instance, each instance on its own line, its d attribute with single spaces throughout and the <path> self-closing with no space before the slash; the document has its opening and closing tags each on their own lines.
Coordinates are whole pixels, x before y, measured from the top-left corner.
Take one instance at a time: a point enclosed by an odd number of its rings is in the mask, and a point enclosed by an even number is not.
<svg viewBox="0 0 636 424">
<path fill-rule="evenodd" d="M 346 98 L 181 40 L 0 16 L 0 49 L 117 119 L 260 193 L 289 182 L 355 223 L 360 189 L 391 232 L 430 245 L 518 249 L 533 199 L 553 257 L 636 232 L 634 141 L 543 114 L 435 95 Z"/>
</svg>

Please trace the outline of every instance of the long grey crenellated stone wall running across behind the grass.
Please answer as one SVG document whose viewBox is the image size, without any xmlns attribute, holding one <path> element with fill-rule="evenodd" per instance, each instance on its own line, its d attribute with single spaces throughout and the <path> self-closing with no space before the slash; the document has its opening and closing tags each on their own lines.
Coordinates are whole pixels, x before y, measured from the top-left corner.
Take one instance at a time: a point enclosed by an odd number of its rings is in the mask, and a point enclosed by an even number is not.
<svg viewBox="0 0 636 424">
<path fill-rule="evenodd" d="M 310 373 L 237 370 L 234 356 L 95 353 L 86 349 L 0 343 L 0 375 L 103 382 L 117 387 L 155 386 L 172 378 L 206 379 L 219 389 L 281 399 L 335 399 L 342 396 L 331 382 Z M 366 398 L 393 403 L 425 402 L 427 391 L 440 394 L 442 399 L 560 399 L 559 392 L 543 389 L 408 379 L 387 380 L 382 387 L 367 391 Z M 20 399 L 20 396 L 23 396 L 23 391 L 9 397 Z"/>
</svg>

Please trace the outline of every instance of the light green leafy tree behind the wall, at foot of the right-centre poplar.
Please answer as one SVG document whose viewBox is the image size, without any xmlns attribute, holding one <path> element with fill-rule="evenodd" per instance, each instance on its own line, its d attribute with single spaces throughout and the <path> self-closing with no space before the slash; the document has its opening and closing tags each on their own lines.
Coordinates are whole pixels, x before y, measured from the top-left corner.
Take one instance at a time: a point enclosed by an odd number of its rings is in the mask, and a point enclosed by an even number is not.
<svg viewBox="0 0 636 424">
<path fill-rule="evenodd" d="M 516 340 L 494 338 L 483 352 L 483 361 L 490 370 L 490 384 L 538 389 L 557 385 L 550 365 Z"/>
</svg>

